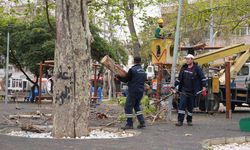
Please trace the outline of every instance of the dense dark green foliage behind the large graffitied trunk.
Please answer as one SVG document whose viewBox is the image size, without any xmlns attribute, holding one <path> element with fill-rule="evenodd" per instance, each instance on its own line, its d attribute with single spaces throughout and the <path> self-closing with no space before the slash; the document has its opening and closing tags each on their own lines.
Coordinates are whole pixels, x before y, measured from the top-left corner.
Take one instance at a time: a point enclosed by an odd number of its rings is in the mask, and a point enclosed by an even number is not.
<svg viewBox="0 0 250 150">
<path fill-rule="evenodd" d="M 51 23 L 55 28 L 55 18 L 51 17 Z M 44 60 L 54 59 L 55 33 L 50 30 L 47 20 L 44 16 L 37 16 L 31 21 L 23 19 L 0 19 L 0 52 L 6 55 L 6 29 L 11 22 L 10 32 L 10 49 L 16 56 L 23 67 L 31 72 L 38 71 L 38 63 Z M 103 56 L 110 55 L 116 61 L 127 61 L 127 53 L 119 41 L 109 43 L 100 36 L 100 30 L 91 25 L 91 33 L 94 42 L 91 45 L 92 58 L 99 61 Z M 123 56 L 123 57 L 120 57 Z M 122 58 L 122 59 L 121 59 Z M 11 63 L 15 60 L 10 58 Z"/>
</svg>

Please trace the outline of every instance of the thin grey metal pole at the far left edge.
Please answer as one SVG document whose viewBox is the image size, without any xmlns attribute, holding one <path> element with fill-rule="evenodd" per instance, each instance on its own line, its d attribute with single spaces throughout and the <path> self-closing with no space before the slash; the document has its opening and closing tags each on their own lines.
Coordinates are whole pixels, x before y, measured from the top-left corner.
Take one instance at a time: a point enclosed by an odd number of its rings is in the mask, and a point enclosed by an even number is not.
<svg viewBox="0 0 250 150">
<path fill-rule="evenodd" d="M 10 33 L 9 27 L 7 32 L 7 57 L 6 57 L 6 70 L 5 70 L 5 104 L 8 103 L 8 83 L 9 83 L 9 51 L 10 51 Z"/>
</svg>

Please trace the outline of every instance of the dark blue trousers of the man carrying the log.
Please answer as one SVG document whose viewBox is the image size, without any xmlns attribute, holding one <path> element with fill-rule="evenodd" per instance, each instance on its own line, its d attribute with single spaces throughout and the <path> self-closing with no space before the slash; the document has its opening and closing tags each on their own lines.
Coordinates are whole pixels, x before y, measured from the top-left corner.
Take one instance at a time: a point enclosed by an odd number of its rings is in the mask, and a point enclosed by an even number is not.
<svg viewBox="0 0 250 150">
<path fill-rule="evenodd" d="M 126 103 L 125 103 L 125 115 L 127 117 L 127 125 L 133 126 L 133 109 L 135 110 L 135 114 L 137 116 L 140 124 L 144 124 L 143 111 L 140 107 L 140 102 L 143 97 L 142 92 L 138 93 L 129 93 Z"/>
</svg>

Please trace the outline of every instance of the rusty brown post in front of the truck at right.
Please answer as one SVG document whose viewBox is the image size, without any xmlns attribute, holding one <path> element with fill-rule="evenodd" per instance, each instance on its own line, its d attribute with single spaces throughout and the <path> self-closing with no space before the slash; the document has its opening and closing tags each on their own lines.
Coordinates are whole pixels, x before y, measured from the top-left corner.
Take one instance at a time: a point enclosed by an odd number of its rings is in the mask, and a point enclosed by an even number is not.
<svg viewBox="0 0 250 150">
<path fill-rule="evenodd" d="M 230 62 L 227 61 L 225 64 L 225 76 L 226 76 L 226 118 L 232 118 L 231 109 L 231 88 L 230 88 Z"/>
</svg>

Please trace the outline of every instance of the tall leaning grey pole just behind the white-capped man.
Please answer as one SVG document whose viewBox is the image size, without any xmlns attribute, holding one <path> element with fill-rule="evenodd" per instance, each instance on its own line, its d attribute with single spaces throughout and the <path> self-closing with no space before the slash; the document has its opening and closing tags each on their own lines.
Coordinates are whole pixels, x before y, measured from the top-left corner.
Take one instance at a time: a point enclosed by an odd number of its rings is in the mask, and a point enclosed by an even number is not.
<svg viewBox="0 0 250 150">
<path fill-rule="evenodd" d="M 174 82 L 175 82 L 177 50 L 179 47 L 179 37 L 180 37 L 179 34 L 180 34 L 180 22 L 181 22 L 181 8 L 182 8 L 182 0 L 179 0 L 179 9 L 178 9 L 176 31 L 175 31 L 175 41 L 174 41 L 174 58 L 173 58 L 173 64 L 172 64 L 172 70 L 171 70 L 171 84 L 172 85 L 174 85 Z M 168 103 L 168 116 L 167 117 L 169 120 L 171 120 L 173 96 L 169 97 L 168 102 L 169 103 Z"/>
</svg>

